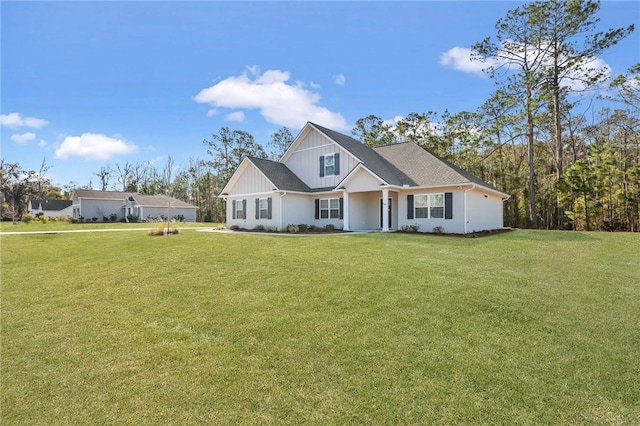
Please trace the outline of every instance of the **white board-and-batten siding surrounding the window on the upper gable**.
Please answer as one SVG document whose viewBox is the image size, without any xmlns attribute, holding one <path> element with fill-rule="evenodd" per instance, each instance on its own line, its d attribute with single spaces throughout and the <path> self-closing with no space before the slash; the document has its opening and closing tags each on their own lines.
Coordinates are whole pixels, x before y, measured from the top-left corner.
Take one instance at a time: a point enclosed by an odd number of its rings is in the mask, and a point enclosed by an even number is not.
<svg viewBox="0 0 640 426">
<path fill-rule="evenodd" d="M 340 154 L 340 174 L 320 177 L 320 156 Z M 309 132 L 285 162 L 310 188 L 336 186 L 358 164 L 340 145 L 318 132 Z"/>
</svg>

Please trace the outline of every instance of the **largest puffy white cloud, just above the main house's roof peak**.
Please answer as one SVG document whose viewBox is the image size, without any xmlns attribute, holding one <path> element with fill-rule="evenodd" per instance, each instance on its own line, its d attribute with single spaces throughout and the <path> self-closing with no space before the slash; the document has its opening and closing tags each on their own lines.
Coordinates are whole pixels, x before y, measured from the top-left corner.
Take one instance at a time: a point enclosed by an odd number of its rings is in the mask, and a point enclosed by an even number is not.
<svg viewBox="0 0 640 426">
<path fill-rule="evenodd" d="M 342 115 L 318 105 L 318 93 L 305 89 L 300 81 L 287 84 L 290 78 L 287 71 L 259 74 L 258 67 L 248 67 L 237 77 L 203 89 L 193 99 L 214 108 L 258 109 L 265 120 L 279 126 L 301 128 L 313 121 L 336 130 L 348 128 Z"/>
</svg>

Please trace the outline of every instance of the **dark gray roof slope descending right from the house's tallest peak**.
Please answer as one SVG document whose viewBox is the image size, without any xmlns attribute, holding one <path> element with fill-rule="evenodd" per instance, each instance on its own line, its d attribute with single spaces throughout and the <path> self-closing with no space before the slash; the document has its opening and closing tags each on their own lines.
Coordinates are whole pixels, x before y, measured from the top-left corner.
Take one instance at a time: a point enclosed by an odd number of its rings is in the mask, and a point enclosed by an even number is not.
<svg viewBox="0 0 640 426">
<path fill-rule="evenodd" d="M 309 123 L 329 139 L 340 145 L 342 148 L 353 154 L 364 164 L 369 170 L 382 178 L 390 185 L 412 185 L 411 179 L 396 165 L 391 164 L 387 159 L 381 156 L 375 150 L 364 145 L 362 142 L 353 139 L 350 136 L 343 135 L 335 130 L 327 129 L 315 123 Z"/>
</svg>

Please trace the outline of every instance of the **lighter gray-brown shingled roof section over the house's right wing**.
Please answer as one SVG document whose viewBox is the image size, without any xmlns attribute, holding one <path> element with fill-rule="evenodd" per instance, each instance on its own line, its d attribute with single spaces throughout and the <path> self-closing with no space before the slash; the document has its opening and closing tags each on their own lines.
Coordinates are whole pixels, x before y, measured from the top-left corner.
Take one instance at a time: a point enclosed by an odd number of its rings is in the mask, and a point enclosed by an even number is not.
<svg viewBox="0 0 640 426">
<path fill-rule="evenodd" d="M 471 173 L 451 164 L 413 142 L 404 142 L 374 148 L 381 156 L 409 176 L 415 186 L 458 185 L 475 183 L 487 188 L 493 186 Z"/>
</svg>

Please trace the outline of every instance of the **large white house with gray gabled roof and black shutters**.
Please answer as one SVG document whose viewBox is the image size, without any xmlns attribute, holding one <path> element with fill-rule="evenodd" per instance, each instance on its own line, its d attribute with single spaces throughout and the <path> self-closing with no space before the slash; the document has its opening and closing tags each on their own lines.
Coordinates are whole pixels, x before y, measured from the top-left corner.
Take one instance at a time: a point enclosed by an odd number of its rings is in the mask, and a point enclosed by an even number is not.
<svg viewBox="0 0 640 426">
<path fill-rule="evenodd" d="M 245 158 L 222 197 L 227 227 L 466 234 L 502 228 L 508 195 L 414 143 L 372 149 L 307 123 L 279 162 Z"/>
</svg>

